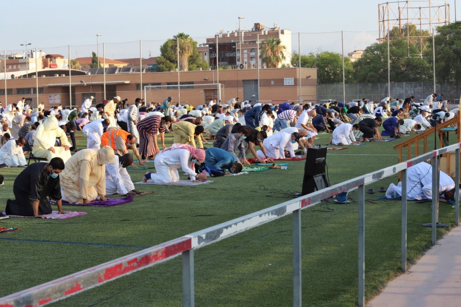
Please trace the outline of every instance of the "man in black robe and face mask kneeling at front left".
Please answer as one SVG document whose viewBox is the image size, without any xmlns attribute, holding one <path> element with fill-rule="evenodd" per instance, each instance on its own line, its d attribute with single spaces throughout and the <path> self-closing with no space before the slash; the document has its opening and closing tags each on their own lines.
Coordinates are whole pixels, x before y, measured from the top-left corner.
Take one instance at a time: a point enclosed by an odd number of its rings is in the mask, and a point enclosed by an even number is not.
<svg viewBox="0 0 461 307">
<path fill-rule="evenodd" d="M 52 212 L 47 197 L 59 201 L 61 185 L 59 176 L 52 178 L 46 172 L 47 162 L 38 162 L 27 166 L 14 180 L 13 193 L 15 200 L 6 202 L 6 214 L 34 216 L 34 201 L 39 201 L 38 214 Z"/>
</svg>

